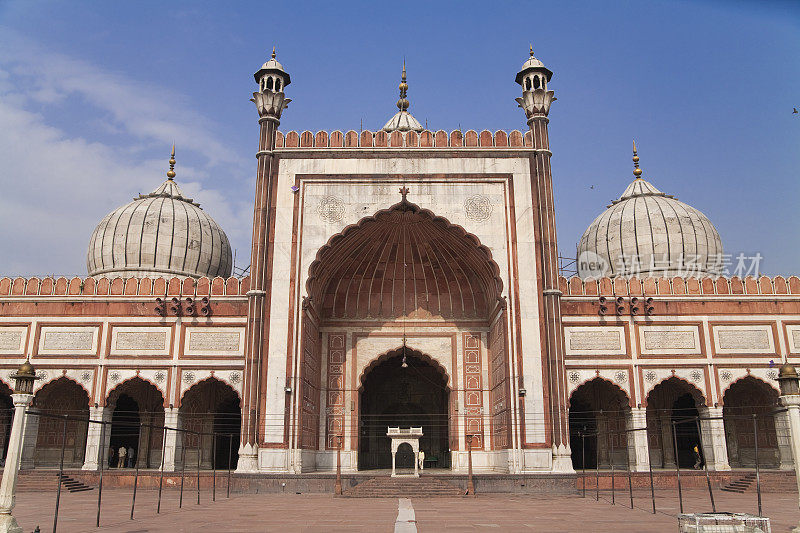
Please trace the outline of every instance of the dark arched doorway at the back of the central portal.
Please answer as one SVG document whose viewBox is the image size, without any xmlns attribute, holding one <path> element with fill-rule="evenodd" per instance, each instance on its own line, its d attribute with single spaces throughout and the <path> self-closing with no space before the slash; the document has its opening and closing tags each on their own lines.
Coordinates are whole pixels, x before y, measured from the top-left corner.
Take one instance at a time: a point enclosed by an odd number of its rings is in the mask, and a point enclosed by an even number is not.
<svg viewBox="0 0 800 533">
<path fill-rule="evenodd" d="M 444 369 L 419 352 L 400 348 L 375 361 L 359 390 L 359 470 L 392 467 L 390 427 L 421 427 L 426 460 L 449 468 L 449 401 Z M 397 461 L 398 468 L 414 467 L 401 460 L 399 448 Z"/>
</svg>

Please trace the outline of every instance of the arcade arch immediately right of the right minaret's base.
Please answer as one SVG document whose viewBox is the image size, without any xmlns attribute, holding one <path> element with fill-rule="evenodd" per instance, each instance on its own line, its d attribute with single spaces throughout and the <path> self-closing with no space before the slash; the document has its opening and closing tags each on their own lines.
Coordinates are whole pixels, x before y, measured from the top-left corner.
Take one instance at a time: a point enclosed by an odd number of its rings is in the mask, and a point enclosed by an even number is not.
<svg viewBox="0 0 800 533">
<path fill-rule="evenodd" d="M 569 400 L 573 468 L 625 467 L 629 413 L 628 396 L 605 379 L 595 378 L 575 389 Z"/>
</svg>

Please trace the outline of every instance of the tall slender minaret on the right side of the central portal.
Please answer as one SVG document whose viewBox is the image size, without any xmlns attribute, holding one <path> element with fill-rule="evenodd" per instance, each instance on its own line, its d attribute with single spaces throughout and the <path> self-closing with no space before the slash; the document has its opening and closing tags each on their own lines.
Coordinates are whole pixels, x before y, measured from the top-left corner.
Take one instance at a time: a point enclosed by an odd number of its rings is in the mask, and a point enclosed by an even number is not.
<svg viewBox="0 0 800 533">
<path fill-rule="evenodd" d="M 537 194 L 539 225 L 541 227 L 541 256 L 538 265 L 542 272 L 542 299 L 545 324 L 544 358 L 547 368 L 547 397 L 553 449 L 553 470 L 571 472 L 569 447 L 569 418 L 567 413 L 567 381 L 564 371 L 564 338 L 561 327 L 561 291 L 558 289 L 558 247 L 556 244 L 556 219 L 553 209 L 553 177 L 550 171 L 550 138 L 547 133 L 547 115 L 556 99 L 547 84 L 552 71 L 536 59 L 533 46 L 530 57 L 517 73 L 516 82 L 522 86 L 522 97 L 517 98 L 525 111 L 531 131 L 531 146 L 536 151 L 531 164 L 531 179 Z"/>
</svg>

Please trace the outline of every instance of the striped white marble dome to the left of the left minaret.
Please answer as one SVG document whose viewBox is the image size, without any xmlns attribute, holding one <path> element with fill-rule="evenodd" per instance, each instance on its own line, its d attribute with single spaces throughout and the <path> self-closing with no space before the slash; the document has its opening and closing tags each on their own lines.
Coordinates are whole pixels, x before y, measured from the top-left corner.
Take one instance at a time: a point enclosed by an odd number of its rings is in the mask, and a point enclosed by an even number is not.
<svg viewBox="0 0 800 533">
<path fill-rule="evenodd" d="M 225 232 L 171 178 L 101 220 L 87 257 L 106 277 L 228 277 L 232 263 Z"/>
</svg>

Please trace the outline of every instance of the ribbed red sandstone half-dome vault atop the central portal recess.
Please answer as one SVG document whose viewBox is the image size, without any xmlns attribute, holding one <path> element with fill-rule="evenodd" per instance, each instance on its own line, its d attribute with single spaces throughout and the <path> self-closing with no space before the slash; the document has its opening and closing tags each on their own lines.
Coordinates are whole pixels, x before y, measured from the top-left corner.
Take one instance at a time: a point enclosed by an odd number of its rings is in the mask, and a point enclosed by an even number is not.
<svg viewBox="0 0 800 533">
<path fill-rule="evenodd" d="M 308 272 L 306 291 L 322 317 L 486 319 L 503 290 L 475 235 L 407 200 L 333 235 Z"/>
</svg>

